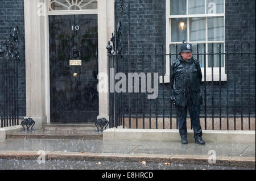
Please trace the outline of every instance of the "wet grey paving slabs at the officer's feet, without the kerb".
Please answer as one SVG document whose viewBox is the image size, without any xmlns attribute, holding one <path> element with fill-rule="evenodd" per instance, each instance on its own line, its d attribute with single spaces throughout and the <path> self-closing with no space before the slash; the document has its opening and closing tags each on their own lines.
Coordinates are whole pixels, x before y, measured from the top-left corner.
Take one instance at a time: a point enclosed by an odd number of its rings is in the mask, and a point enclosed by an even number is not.
<svg viewBox="0 0 256 181">
<path fill-rule="evenodd" d="M 103 141 L 103 140 L 67 140 L 67 139 L 28 139 L 2 140 L 0 151 L 68 151 L 89 153 L 145 153 L 209 155 L 214 150 L 217 156 L 255 157 L 255 143 L 207 142 L 196 145 L 189 142 L 181 145 L 179 141 Z"/>
</svg>

